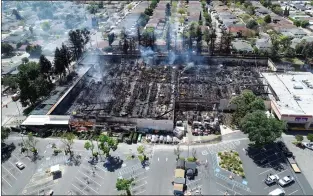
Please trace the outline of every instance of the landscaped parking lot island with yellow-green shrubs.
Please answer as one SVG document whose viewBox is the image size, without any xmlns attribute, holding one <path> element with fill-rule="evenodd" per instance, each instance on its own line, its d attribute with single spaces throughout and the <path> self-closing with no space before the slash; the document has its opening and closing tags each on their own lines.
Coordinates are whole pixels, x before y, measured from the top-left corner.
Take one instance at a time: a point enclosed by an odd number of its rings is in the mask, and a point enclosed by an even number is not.
<svg viewBox="0 0 313 196">
<path fill-rule="evenodd" d="M 218 153 L 219 166 L 241 177 L 245 177 L 239 153 L 236 151 L 224 151 Z"/>
</svg>

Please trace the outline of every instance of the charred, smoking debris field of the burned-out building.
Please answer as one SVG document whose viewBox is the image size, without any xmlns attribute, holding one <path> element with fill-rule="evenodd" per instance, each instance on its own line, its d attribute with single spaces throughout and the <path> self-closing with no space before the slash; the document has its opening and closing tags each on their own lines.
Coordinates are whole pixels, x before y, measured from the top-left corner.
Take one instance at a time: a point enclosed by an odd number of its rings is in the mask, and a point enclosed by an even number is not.
<svg viewBox="0 0 313 196">
<path fill-rule="evenodd" d="M 175 111 L 211 111 L 244 89 L 265 96 L 259 72 L 267 65 L 243 61 L 168 65 L 143 59 L 104 61 L 83 77 L 63 114 L 77 117 L 174 119 Z"/>
</svg>

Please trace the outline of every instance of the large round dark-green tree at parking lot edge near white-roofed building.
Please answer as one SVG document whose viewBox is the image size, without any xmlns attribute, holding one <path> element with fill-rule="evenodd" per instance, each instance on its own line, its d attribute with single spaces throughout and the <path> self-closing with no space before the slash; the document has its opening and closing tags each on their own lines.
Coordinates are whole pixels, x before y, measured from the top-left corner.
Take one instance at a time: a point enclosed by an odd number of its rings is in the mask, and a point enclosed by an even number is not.
<svg viewBox="0 0 313 196">
<path fill-rule="evenodd" d="M 241 130 L 248 134 L 250 141 L 264 146 L 281 137 L 286 123 L 273 117 L 267 117 L 264 111 L 257 110 L 247 114 L 240 122 Z"/>
</svg>

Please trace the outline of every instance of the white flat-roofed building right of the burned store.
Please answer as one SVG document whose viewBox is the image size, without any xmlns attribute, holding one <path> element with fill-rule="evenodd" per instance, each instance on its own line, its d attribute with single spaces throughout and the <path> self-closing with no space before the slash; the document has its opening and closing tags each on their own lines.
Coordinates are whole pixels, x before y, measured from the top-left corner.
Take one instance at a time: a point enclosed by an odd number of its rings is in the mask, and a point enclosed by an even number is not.
<svg viewBox="0 0 313 196">
<path fill-rule="evenodd" d="M 269 85 L 271 108 L 290 129 L 313 130 L 313 74 L 262 73 Z"/>
</svg>

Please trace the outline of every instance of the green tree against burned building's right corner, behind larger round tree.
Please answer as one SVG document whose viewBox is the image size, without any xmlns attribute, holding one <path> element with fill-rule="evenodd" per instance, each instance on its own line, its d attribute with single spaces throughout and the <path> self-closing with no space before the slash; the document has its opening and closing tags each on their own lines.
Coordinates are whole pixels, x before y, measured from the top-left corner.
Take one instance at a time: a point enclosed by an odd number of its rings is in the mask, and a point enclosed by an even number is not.
<svg viewBox="0 0 313 196">
<path fill-rule="evenodd" d="M 250 90 L 244 90 L 239 96 L 234 97 L 231 103 L 236 104 L 237 107 L 232 116 L 232 122 L 237 125 L 249 112 L 265 110 L 264 101 L 257 98 Z"/>
</svg>

